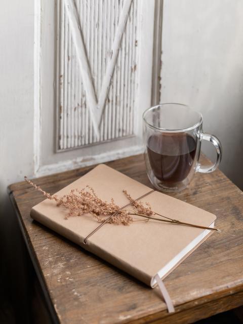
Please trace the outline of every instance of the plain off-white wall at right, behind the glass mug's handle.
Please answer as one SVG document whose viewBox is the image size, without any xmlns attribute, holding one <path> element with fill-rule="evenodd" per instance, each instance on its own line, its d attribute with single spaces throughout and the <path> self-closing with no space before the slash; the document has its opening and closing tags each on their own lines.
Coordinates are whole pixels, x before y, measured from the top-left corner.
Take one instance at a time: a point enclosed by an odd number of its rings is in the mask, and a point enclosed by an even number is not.
<svg viewBox="0 0 243 324">
<path fill-rule="evenodd" d="M 164 0 L 160 102 L 203 113 L 220 169 L 243 189 L 243 2 Z M 205 146 L 212 159 L 214 150 Z"/>
</svg>

